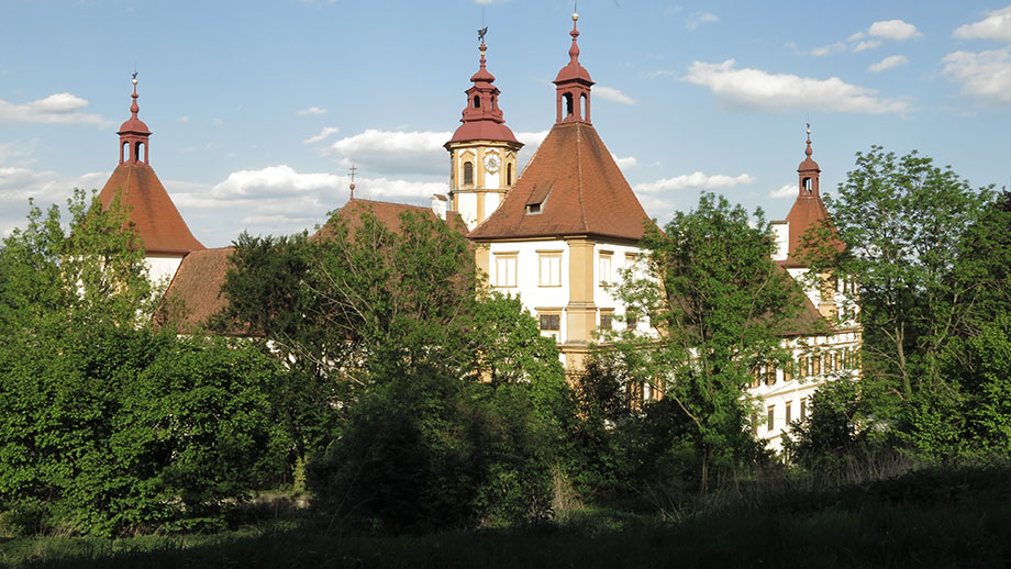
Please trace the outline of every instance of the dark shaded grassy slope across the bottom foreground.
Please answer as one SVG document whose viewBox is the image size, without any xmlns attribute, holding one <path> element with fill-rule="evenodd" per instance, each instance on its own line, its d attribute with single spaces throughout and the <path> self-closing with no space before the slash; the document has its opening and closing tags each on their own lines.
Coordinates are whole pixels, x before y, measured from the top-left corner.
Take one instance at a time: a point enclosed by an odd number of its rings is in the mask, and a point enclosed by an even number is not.
<svg viewBox="0 0 1011 569">
<path fill-rule="evenodd" d="M 565 524 L 342 537 L 312 524 L 129 539 L 0 543 L 31 568 L 1002 567 L 1011 565 L 1011 468 L 924 470 L 863 486 L 769 494 L 679 523 L 585 509 Z"/>
</svg>

